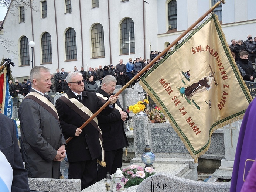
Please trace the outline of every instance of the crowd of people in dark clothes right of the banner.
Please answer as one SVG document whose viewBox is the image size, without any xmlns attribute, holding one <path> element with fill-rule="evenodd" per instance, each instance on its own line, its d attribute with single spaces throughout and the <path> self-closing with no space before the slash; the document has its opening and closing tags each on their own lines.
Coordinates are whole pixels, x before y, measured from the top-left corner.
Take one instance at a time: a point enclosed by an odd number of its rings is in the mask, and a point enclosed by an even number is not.
<svg viewBox="0 0 256 192">
<path fill-rule="evenodd" d="M 256 37 L 253 41 L 252 35 L 247 35 L 246 41 L 232 39 L 231 43 L 229 48 L 243 80 L 254 82 L 256 71 L 253 63 L 256 63 Z"/>
</svg>

